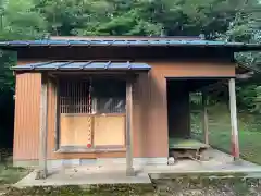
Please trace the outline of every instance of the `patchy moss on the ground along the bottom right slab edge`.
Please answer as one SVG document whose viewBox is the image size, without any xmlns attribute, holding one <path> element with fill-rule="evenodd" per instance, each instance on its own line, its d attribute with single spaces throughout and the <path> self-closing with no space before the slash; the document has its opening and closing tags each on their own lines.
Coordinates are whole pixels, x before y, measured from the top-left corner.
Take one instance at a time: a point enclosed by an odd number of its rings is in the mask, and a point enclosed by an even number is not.
<svg viewBox="0 0 261 196">
<path fill-rule="evenodd" d="M 171 184 L 167 183 L 170 181 Z M 258 188 L 261 187 L 259 180 L 243 177 L 176 177 L 172 180 L 156 180 L 153 184 L 158 193 L 165 193 L 171 187 L 176 195 L 178 195 L 178 193 L 185 195 L 186 193 L 190 193 L 190 195 L 192 195 L 192 193 L 196 195 L 204 195 L 204 193 L 211 192 L 213 195 L 219 195 L 219 193 L 231 193 L 240 196 L 250 195 L 253 187 L 256 188 L 254 193 L 258 193 L 260 192 Z"/>
</svg>

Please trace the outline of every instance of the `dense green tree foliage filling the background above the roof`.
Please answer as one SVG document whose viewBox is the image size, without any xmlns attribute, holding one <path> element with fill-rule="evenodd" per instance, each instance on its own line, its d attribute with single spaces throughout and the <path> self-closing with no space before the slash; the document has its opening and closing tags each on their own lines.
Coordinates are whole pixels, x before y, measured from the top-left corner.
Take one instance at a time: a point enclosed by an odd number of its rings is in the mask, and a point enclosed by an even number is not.
<svg viewBox="0 0 261 196">
<path fill-rule="evenodd" d="M 258 23 L 256 7 L 258 0 L 5 0 L 1 13 L 4 29 L 24 37 L 160 35 L 164 29 L 170 36 L 213 39 L 223 34 L 249 38 L 248 26 Z"/>
</svg>

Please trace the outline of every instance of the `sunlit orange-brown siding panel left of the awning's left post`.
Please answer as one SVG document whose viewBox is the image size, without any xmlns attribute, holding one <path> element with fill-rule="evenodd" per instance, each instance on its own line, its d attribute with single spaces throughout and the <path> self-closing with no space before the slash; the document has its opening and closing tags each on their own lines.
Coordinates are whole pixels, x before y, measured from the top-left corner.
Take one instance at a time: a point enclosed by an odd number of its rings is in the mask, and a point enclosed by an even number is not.
<svg viewBox="0 0 261 196">
<path fill-rule="evenodd" d="M 14 159 L 37 159 L 39 142 L 41 76 L 16 74 Z"/>
</svg>

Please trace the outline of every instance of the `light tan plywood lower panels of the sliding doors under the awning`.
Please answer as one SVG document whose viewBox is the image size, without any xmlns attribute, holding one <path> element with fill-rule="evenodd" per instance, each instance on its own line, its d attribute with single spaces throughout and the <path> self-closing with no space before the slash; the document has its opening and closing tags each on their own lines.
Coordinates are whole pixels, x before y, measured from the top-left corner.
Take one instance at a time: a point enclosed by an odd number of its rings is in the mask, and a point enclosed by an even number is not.
<svg viewBox="0 0 261 196">
<path fill-rule="evenodd" d="M 89 119 L 90 118 L 90 119 Z M 67 115 L 61 114 L 60 145 L 86 146 L 88 128 L 94 132 L 92 146 L 124 146 L 125 115 Z M 89 125 L 90 121 L 90 125 Z M 91 136 L 90 136 L 91 137 Z"/>
</svg>

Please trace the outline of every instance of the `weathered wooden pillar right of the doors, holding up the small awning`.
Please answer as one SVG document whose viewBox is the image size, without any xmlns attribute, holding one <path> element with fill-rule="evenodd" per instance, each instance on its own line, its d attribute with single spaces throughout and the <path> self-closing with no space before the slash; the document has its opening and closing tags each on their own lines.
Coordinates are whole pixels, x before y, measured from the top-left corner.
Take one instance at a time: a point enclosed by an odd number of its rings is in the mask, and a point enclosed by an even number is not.
<svg viewBox="0 0 261 196">
<path fill-rule="evenodd" d="M 133 79 L 126 82 L 126 175 L 135 174 L 133 168 Z"/>
</svg>

